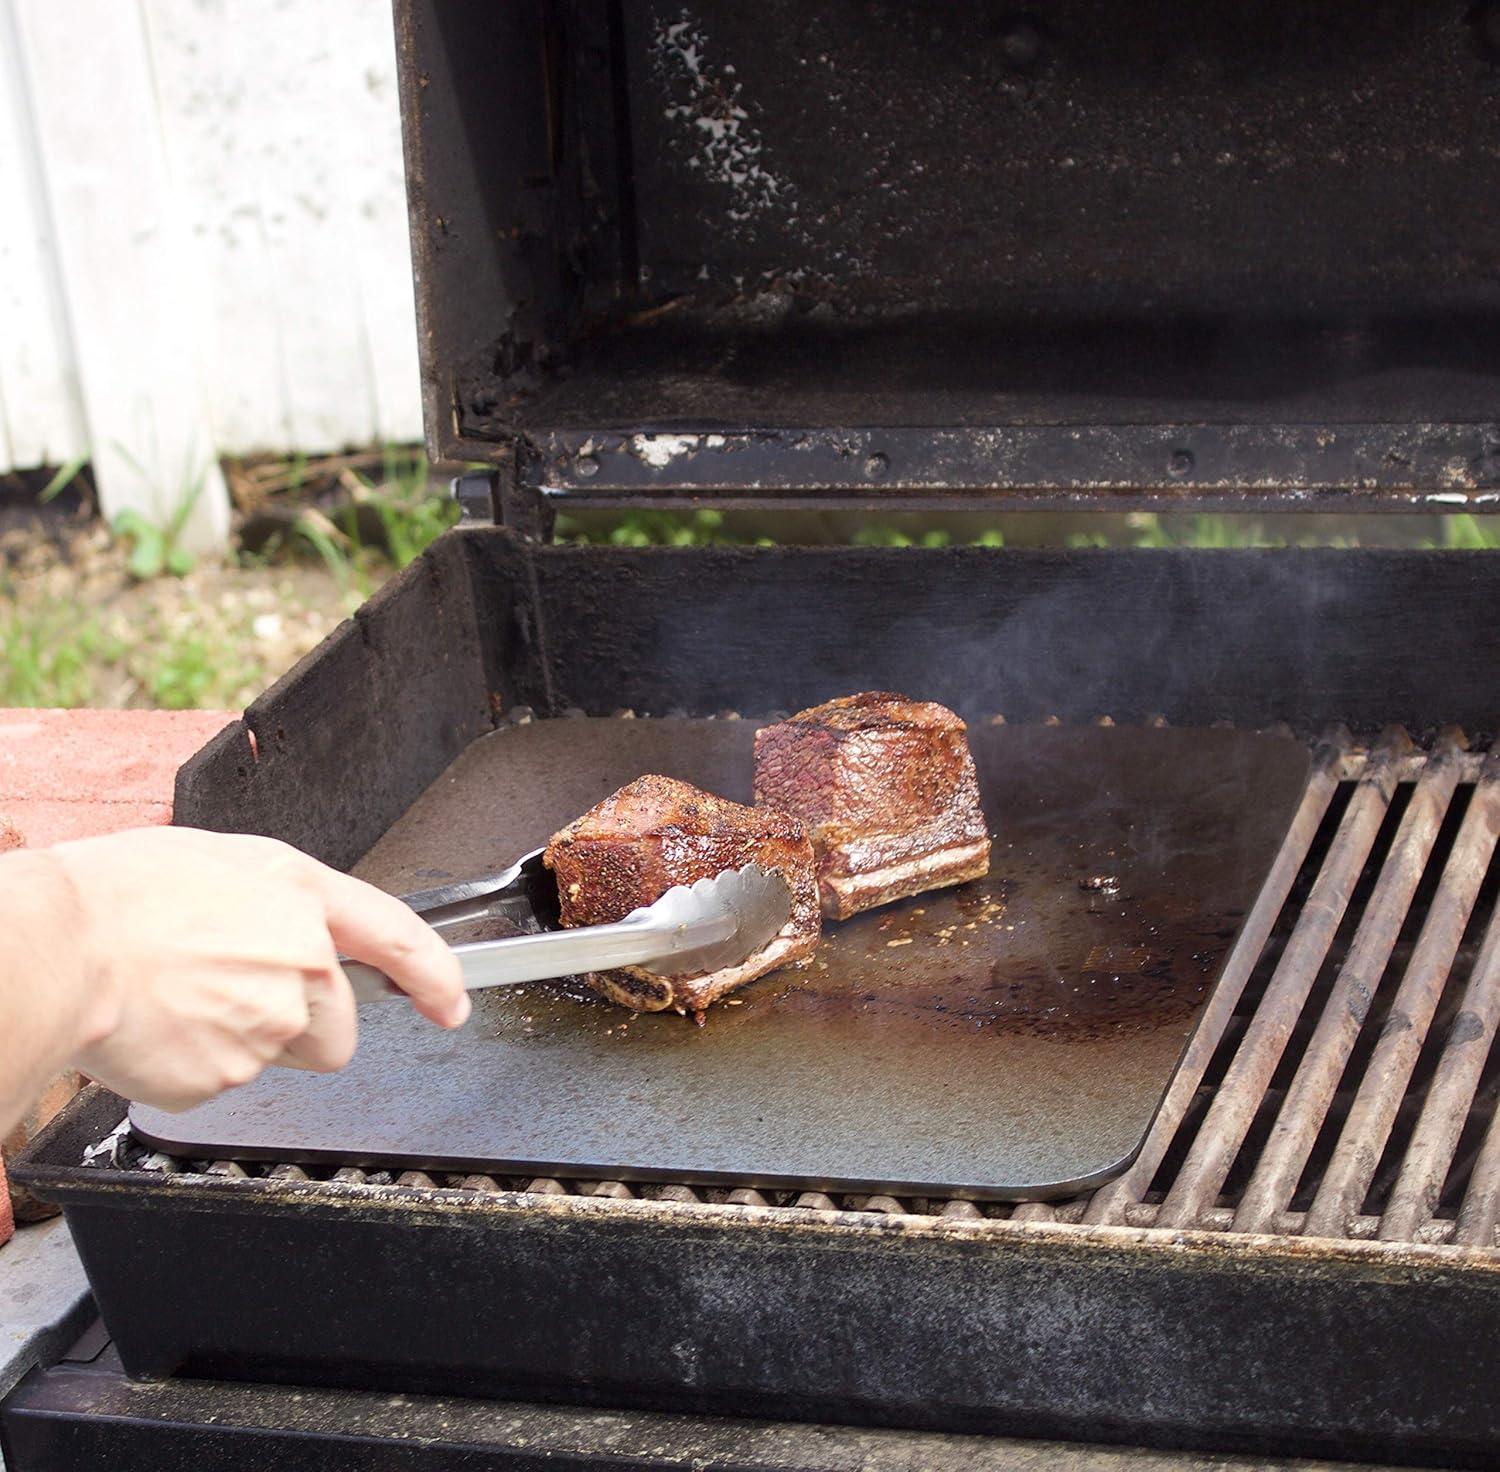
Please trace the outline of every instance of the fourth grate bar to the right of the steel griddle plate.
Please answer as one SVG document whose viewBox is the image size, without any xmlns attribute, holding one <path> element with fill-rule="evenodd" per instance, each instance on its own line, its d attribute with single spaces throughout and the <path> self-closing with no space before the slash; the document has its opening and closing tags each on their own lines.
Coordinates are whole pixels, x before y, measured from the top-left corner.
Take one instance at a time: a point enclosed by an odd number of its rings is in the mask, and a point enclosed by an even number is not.
<svg viewBox="0 0 1500 1472">
<path fill-rule="evenodd" d="M 1497 836 L 1500 750 L 1490 753 L 1479 773 L 1479 783 L 1454 840 L 1432 906 L 1365 1067 L 1334 1157 L 1323 1172 L 1306 1215 L 1305 1230 L 1311 1236 L 1346 1235 L 1348 1218 L 1359 1211 L 1370 1191 L 1490 869 Z"/>
</svg>

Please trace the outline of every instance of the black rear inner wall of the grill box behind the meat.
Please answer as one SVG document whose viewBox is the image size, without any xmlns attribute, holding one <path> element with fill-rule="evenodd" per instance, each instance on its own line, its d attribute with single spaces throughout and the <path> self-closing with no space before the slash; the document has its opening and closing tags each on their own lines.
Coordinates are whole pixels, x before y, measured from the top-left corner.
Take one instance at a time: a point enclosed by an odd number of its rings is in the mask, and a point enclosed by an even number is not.
<svg viewBox="0 0 1500 1472">
<path fill-rule="evenodd" d="M 528 590 L 512 684 L 543 713 L 758 716 L 888 687 L 1008 720 L 1478 735 L 1500 716 L 1485 552 L 472 551 L 494 629 Z"/>
</svg>

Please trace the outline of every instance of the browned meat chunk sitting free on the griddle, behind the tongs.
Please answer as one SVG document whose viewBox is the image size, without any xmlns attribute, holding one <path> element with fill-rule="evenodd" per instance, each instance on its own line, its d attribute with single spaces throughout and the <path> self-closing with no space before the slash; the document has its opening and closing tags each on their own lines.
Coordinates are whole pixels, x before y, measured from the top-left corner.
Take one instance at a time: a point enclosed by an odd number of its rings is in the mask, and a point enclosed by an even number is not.
<svg viewBox="0 0 1500 1472">
<path fill-rule="evenodd" d="M 981 878 L 990 836 L 964 723 L 867 690 L 754 735 L 754 800 L 807 824 L 830 920 Z"/>
</svg>

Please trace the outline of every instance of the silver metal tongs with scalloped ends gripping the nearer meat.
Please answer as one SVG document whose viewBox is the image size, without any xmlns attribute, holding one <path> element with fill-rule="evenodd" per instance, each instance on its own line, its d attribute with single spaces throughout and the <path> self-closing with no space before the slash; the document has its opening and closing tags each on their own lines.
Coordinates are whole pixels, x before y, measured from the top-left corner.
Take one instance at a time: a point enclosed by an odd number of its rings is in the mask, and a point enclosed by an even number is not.
<svg viewBox="0 0 1500 1472">
<path fill-rule="evenodd" d="M 615 966 L 644 966 L 664 977 L 718 971 L 760 950 L 792 912 L 786 881 L 746 864 L 668 890 L 614 924 L 561 929 L 556 879 L 542 863 L 542 849 L 504 873 L 402 897 L 438 932 L 495 918 L 522 929 L 522 935 L 453 947 L 470 990 Z M 404 995 L 364 962 L 344 962 L 344 974 L 357 1001 Z"/>
</svg>

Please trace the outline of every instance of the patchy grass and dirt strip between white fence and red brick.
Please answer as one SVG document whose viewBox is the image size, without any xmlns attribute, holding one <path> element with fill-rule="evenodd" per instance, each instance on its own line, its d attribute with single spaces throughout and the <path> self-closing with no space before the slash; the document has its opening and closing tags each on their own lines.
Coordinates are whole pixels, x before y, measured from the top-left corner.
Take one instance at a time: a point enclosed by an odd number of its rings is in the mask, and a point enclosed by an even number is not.
<svg viewBox="0 0 1500 1472">
<path fill-rule="evenodd" d="M 39 477 L 38 500 L 57 498 L 84 471 L 74 462 L 45 486 Z M 226 471 L 242 483 L 248 476 Z M 0 560 L 0 705 L 234 708 L 458 518 L 450 498 L 434 494 L 420 450 L 298 456 L 256 471 L 252 489 L 262 501 L 279 497 L 290 515 L 278 543 L 255 555 L 195 566 L 178 546 L 206 477 L 184 482 L 162 522 L 117 518 L 112 548 L 98 524 L 82 536 L 84 554 L 72 540 L 66 557 L 50 554 L 45 539 L 12 542 L 14 578 Z M 286 566 L 298 546 L 330 582 Z M 262 633 L 267 618 L 276 629 Z"/>
</svg>

